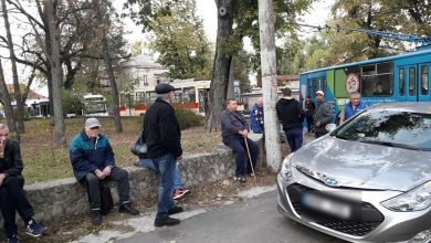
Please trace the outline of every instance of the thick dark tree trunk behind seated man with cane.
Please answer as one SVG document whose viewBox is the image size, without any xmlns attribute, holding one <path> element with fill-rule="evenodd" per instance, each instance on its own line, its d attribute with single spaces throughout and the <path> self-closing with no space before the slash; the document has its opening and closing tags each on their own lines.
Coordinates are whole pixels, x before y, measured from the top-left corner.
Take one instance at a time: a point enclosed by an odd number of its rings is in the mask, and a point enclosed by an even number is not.
<svg viewBox="0 0 431 243">
<path fill-rule="evenodd" d="M 220 113 L 227 98 L 232 55 L 227 54 L 225 49 L 232 34 L 234 2 L 234 0 L 216 0 L 218 10 L 217 46 L 209 94 L 210 110 L 206 125 L 209 131 L 219 130 Z"/>
</svg>

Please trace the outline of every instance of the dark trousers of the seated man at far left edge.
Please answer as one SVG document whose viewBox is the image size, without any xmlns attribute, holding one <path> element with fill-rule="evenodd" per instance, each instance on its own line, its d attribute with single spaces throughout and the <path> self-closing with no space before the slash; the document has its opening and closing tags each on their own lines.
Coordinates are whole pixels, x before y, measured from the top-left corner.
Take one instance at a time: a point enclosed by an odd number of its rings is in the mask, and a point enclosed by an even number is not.
<svg viewBox="0 0 431 243">
<path fill-rule="evenodd" d="M 12 176 L 7 177 L 0 186 L 0 207 L 8 237 L 18 233 L 15 211 L 18 211 L 25 224 L 34 214 L 33 208 L 25 198 L 23 186 L 24 179 L 22 177 Z"/>
</svg>

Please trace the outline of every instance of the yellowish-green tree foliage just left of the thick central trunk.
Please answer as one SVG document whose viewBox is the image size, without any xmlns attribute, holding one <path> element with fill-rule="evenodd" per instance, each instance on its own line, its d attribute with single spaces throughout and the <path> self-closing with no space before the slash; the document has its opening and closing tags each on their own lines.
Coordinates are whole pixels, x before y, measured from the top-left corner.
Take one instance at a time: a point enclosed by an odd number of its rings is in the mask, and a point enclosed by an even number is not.
<svg viewBox="0 0 431 243">
<path fill-rule="evenodd" d="M 133 1 L 129 1 L 133 2 Z M 137 3 L 137 1 L 134 1 Z M 202 20 L 196 15 L 196 1 L 140 1 L 139 20 L 151 31 L 149 47 L 172 78 L 210 78 L 212 52 Z M 151 8 L 148 9 L 148 8 Z"/>
</svg>

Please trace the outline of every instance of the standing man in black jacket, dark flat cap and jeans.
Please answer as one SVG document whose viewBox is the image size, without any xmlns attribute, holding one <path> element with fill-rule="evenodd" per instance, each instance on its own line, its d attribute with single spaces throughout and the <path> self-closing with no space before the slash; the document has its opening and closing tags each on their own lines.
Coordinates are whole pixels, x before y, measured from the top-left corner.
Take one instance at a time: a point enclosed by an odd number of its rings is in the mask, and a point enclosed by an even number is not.
<svg viewBox="0 0 431 243">
<path fill-rule="evenodd" d="M 180 220 L 169 215 L 183 211 L 181 207 L 175 205 L 172 197 L 177 159 L 182 155 L 181 130 L 171 105 L 174 89 L 169 84 L 158 84 L 155 88 L 158 98 L 144 117 L 144 138 L 148 147 L 148 158 L 153 159 L 160 176 L 155 226 L 179 224 Z"/>
</svg>

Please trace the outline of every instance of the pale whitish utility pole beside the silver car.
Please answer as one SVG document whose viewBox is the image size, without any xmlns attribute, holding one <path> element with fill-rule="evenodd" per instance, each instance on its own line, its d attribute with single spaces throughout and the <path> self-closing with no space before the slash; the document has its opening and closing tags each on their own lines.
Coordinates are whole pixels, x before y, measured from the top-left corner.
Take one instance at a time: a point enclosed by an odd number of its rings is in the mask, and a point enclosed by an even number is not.
<svg viewBox="0 0 431 243">
<path fill-rule="evenodd" d="M 261 71 L 263 92 L 263 113 L 265 117 L 265 147 L 266 163 L 277 171 L 282 163 L 280 144 L 280 126 L 275 112 L 275 103 L 278 99 L 275 38 L 274 38 L 274 10 L 272 0 L 259 0 L 259 30 L 261 39 Z"/>
</svg>

